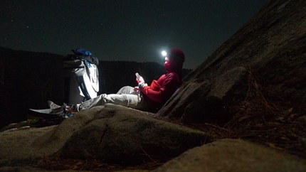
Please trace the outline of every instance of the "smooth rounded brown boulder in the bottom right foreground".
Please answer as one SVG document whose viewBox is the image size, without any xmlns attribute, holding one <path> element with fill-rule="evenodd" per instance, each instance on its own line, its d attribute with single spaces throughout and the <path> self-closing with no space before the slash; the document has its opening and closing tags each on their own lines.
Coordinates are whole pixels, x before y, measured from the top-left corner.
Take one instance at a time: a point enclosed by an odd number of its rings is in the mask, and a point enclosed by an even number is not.
<svg viewBox="0 0 306 172">
<path fill-rule="evenodd" d="M 184 152 L 159 171 L 305 171 L 305 159 L 241 139 L 221 139 Z"/>
</svg>

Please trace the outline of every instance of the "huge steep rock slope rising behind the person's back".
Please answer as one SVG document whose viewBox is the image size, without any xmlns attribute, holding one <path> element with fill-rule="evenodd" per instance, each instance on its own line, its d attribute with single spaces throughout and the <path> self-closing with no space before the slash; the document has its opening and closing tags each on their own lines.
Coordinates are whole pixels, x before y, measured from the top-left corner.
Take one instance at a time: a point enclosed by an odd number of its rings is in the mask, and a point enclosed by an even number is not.
<svg viewBox="0 0 306 172">
<path fill-rule="evenodd" d="M 306 3 L 270 1 L 184 77 L 184 85 L 158 113 L 181 116 L 207 95 L 224 103 L 246 99 L 255 85 L 268 100 L 306 103 Z"/>
</svg>

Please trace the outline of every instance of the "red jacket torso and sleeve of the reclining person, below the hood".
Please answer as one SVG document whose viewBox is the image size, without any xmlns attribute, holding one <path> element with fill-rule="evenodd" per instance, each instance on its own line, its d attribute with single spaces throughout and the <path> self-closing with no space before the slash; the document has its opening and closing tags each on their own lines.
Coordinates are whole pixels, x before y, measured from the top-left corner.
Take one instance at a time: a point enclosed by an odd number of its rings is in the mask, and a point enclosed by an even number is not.
<svg viewBox="0 0 306 172">
<path fill-rule="evenodd" d="M 181 85 L 179 75 L 170 72 L 159 77 L 159 80 L 153 80 L 150 86 L 144 86 L 142 93 L 154 102 L 161 103 L 168 100 L 179 85 Z"/>
</svg>

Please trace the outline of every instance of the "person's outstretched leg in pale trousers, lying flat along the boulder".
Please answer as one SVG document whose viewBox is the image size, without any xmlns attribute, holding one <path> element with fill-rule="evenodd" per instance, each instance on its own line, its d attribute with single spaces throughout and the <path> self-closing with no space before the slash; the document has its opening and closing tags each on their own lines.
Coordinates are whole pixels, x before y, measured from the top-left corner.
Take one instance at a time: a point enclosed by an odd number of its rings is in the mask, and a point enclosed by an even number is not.
<svg viewBox="0 0 306 172">
<path fill-rule="evenodd" d="M 90 109 L 92 107 L 100 106 L 105 103 L 119 104 L 125 107 L 132 107 L 134 109 L 143 109 L 142 107 L 143 99 L 142 99 L 142 95 L 140 94 L 137 94 L 137 95 L 102 94 L 91 100 L 83 102 L 82 104 L 78 104 L 78 112 L 85 110 L 85 109 Z"/>
</svg>

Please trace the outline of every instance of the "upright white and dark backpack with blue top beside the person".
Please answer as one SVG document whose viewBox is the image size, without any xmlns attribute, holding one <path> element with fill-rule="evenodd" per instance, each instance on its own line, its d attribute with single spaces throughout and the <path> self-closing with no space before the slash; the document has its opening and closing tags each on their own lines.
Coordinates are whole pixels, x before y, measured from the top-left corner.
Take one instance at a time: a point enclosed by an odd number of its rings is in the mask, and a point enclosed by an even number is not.
<svg viewBox="0 0 306 172">
<path fill-rule="evenodd" d="M 79 104 L 97 97 L 99 60 L 88 50 L 76 48 L 66 56 L 64 67 L 64 102 Z"/>
</svg>

